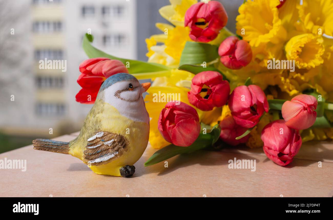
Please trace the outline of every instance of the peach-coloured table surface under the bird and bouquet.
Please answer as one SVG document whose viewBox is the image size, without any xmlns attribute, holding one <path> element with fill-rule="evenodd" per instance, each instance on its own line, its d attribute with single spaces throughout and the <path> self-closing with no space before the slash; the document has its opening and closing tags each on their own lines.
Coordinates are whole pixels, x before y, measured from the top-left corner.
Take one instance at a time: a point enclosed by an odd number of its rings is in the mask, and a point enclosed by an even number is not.
<svg viewBox="0 0 333 220">
<path fill-rule="evenodd" d="M 56 138 L 70 141 L 78 133 Z M 1 197 L 213 197 L 333 196 L 333 144 L 304 143 L 294 161 L 282 167 L 262 149 L 199 151 L 144 167 L 155 152 L 147 147 L 131 178 L 97 175 L 77 158 L 27 146 L 0 154 L 0 160 L 27 160 L 27 170 L 0 169 Z M 228 161 L 256 160 L 256 171 L 229 169 Z M 321 167 L 318 167 L 321 162 Z"/>
</svg>

